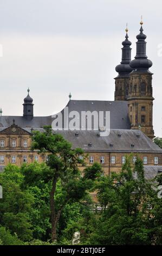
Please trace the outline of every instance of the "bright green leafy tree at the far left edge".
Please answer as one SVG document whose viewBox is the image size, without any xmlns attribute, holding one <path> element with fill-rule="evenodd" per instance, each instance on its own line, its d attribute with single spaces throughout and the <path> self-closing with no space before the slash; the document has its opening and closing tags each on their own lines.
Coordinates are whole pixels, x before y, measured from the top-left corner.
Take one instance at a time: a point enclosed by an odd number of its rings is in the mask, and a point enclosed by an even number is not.
<svg viewBox="0 0 162 256">
<path fill-rule="evenodd" d="M 10 230 L 11 235 L 16 233 L 18 239 L 29 241 L 33 238 L 29 215 L 34 197 L 21 190 L 22 181 L 23 175 L 17 166 L 9 164 L 1 173 L 3 199 L 0 200 L 0 223 Z"/>
</svg>

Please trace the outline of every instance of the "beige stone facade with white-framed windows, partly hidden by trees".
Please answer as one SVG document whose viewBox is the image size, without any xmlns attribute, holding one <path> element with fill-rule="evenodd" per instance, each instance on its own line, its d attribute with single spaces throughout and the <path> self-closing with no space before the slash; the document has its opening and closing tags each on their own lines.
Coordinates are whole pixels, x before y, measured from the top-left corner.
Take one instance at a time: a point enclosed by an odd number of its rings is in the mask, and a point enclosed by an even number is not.
<svg viewBox="0 0 162 256">
<path fill-rule="evenodd" d="M 12 147 L 12 140 L 16 140 L 16 147 Z M 23 141 L 27 140 L 28 147 L 23 147 Z M 9 163 L 12 163 L 12 156 L 16 156 L 16 164 L 17 166 L 21 166 L 24 162 L 24 156 L 27 156 L 27 162 L 33 163 L 35 161 L 35 156 L 38 156 L 38 162 L 42 163 L 46 161 L 46 156 L 38 154 L 38 151 L 30 151 L 31 147 L 31 137 L 30 135 L 0 135 L 1 140 L 5 141 L 5 147 L 0 147 L 0 156 L 4 156 L 4 163 L 0 163 L 0 166 L 6 166 Z M 130 152 L 131 153 L 131 152 Z M 93 163 L 89 163 L 89 157 L 94 157 L 94 162 L 100 163 L 100 157 L 103 156 L 105 158 L 105 162 L 102 163 L 103 173 L 104 175 L 110 175 L 112 172 L 120 172 L 122 168 L 121 158 L 122 156 L 129 155 L 130 153 L 102 153 L 102 152 L 88 152 L 85 153 L 87 155 L 86 166 L 91 166 Z M 144 156 L 147 156 L 148 162 L 146 165 L 162 165 L 162 154 L 161 153 L 134 153 L 134 156 L 139 156 L 143 159 Z M 115 163 L 111 163 L 111 157 L 115 156 Z M 154 157 L 159 158 L 158 164 L 154 164 Z M 79 167 L 81 172 L 85 167 Z"/>
</svg>

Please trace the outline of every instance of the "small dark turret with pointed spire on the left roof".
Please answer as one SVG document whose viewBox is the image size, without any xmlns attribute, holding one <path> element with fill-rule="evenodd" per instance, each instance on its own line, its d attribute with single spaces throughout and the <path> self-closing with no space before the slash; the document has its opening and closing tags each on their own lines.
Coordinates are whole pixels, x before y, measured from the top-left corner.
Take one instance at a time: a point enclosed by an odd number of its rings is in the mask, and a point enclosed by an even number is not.
<svg viewBox="0 0 162 256">
<path fill-rule="evenodd" d="M 29 95 L 29 88 L 28 88 L 28 95 L 27 97 L 24 98 L 24 103 L 23 103 L 23 117 L 31 120 L 33 119 L 33 99 Z"/>
</svg>

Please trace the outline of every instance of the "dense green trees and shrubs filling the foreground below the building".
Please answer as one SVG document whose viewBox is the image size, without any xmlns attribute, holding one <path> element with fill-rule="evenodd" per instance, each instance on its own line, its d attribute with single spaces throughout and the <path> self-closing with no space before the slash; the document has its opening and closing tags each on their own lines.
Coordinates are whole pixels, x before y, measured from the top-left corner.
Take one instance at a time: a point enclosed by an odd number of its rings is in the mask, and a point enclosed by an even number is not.
<svg viewBox="0 0 162 256">
<path fill-rule="evenodd" d="M 162 200 L 139 158 L 132 166 L 127 157 L 111 177 L 101 177 L 101 166 L 94 163 L 81 178 L 80 149 L 72 150 L 50 130 L 36 132 L 34 143 L 48 150 L 47 164 L 9 164 L 0 174 L 0 245 L 71 245 L 76 231 L 82 245 L 162 245 Z M 161 184 L 162 176 L 156 180 Z M 100 211 L 89 196 L 93 191 Z"/>
</svg>

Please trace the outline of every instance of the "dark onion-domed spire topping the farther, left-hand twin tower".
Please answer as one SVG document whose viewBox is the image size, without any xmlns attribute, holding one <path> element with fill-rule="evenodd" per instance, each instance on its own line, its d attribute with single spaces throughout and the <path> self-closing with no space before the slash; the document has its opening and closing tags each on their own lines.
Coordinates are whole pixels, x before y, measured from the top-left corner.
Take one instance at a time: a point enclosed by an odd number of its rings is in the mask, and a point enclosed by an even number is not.
<svg viewBox="0 0 162 256">
<path fill-rule="evenodd" d="M 131 45 L 132 43 L 128 40 L 128 27 L 126 24 L 126 36 L 125 40 L 122 42 L 123 47 L 122 50 L 122 57 L 121 57 L 121 64 L 117 65 L 115 70 L 119 73 L 120 77 L 128 77 L 129 73 L 132 71 L 132 68 L 129 66 L 131 61 Z M 118 76 L 118 77 L 119 77 Z"/>
</svg>

